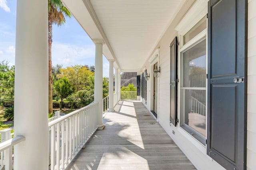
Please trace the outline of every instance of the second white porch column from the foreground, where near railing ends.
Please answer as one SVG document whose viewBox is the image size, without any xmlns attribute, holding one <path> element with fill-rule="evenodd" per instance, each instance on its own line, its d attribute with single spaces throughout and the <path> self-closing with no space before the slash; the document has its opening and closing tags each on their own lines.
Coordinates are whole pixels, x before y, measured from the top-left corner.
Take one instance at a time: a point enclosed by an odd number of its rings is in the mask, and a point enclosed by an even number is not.
<svg viewBox="0 0 256 170">
<path fill-rule="evenodd" d="M 97 110 L 97 125 L 98 130 L 104 129 L 102 123 L 102 108 L 103 108 L 103 64 L 102 64 L 102 46 L 104 44 L 103 39 L 94 39 L 95 44 L 95 72 L 94 72 L 94 101 L 98 102 Z"/>
</svg>

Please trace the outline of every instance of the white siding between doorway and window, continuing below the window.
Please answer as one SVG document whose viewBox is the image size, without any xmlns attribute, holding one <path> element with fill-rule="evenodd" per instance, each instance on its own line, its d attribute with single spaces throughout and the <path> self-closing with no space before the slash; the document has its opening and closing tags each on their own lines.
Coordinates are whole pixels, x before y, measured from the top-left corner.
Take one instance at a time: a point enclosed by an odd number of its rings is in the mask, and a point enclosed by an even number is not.
<svg viewBox="0 0 256 170">
<path fill-rule="evenodd" d="M 184 10 L 184 9 L 183 9 Z M 182 13 L 183 12 L 183 13 Z M 175 30 L 178 22 L 184 16 L 186 11 L 180 12 L 172 22 L 166 33 L 163 35 L 158 47 L 160 47 L 161 66 L 159 80 L 159 123 L 186 154 L 190 161 L 198 170 L 222 170 L 224 169 L 217 162 L 206 155 L 206 149 L 195 139 L 188 139 L 173 125 L 170 126 L 170 43 L 178 32 Z M 175 135 L 172 134 L 175 131 Z"/>
</svg>

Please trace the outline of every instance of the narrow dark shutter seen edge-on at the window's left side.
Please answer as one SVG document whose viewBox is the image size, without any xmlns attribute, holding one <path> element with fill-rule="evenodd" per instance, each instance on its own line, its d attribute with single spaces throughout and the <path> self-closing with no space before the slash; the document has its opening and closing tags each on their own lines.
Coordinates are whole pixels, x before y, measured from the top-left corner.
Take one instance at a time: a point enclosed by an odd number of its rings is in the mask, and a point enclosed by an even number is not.
<svg viewBox="0 0 256 170">
<path fill-rule="evenodd" d="M 170 44 L 170 122 L 176 126 L 177 118 L 177 37 Z"/>
</svg>

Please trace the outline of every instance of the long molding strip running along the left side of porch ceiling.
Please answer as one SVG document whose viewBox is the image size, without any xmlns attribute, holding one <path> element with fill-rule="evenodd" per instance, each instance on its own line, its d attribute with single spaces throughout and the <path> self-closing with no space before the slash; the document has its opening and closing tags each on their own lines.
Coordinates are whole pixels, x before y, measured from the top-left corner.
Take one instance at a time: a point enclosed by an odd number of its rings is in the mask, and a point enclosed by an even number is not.
<svg viewBox="0 0 256 170">
<path fill-rule="evenodd" d="M 90 16 L 92 17 L 92 20 L 94 21 L 96 27 L 100 31 L 100 34 L 101 34 L 103 40 L 105 41 L 110 53 L 112 54 L 112 57 L 114 58 L 116 64 L 118 65 L 119 68 L 121 68 L 120 64 L 118 63 L 118 60 L 116 58 L 116 55 L 115 55 L 115 53 L 114 53 L 114 51 L 113 51 L 113 49 L 112 49 L 112 47 L 111 47 L 111 45 L 108 41 L 108 38 L 107 38 L 107 36 L 104 32 L 104 29 L 102 28 L 102 25 L 100 24 L 100 20 L 98 19 L 97 15 L 96 15 L 96 12 L 93 9 L 93 6 L 92 6 L 90 0 L 83 0 L 83 2 L 84 2 L 84 5 L 86 6 Z"/>
</svg>

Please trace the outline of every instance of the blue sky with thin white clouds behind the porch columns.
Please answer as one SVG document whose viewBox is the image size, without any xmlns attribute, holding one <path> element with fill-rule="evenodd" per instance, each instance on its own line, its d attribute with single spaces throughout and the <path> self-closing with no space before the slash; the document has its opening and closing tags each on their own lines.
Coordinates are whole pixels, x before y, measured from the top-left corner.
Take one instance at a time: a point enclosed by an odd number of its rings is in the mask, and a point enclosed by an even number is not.
<svg viewBox="0 0 256 170">
<path fill-rule="evenodd" d="M 15 63 L 16 0 L 0 0 L 0 61 Z M 61 27 L 53 26 L 52 64 L 64 67 L 75 64 L 94 65 L 95 45 L 72 18 Z M 103 76 L 108 77 L 109 63 L 103 57 Z"/>
</svg>

